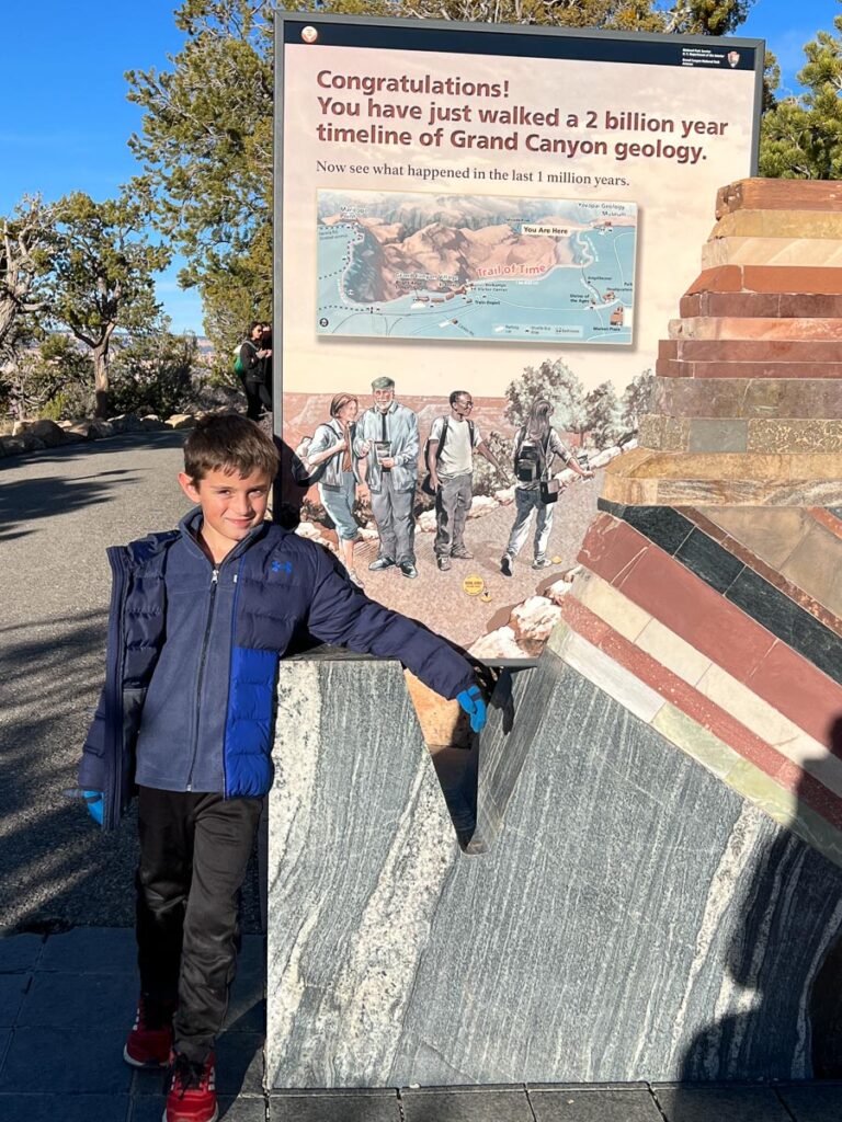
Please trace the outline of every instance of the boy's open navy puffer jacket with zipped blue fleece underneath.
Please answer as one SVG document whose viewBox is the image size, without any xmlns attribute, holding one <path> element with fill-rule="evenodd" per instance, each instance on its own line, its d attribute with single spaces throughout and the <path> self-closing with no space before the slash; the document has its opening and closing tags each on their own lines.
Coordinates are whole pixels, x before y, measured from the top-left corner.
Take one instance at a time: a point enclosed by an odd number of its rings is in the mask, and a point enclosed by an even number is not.
<svg viewBox="0 0 842 1122">
<path fill-rule="evenodd" d="M 369 600 L 327 550 L 264 523 L 216 568 L 177 531 L 108 551 L 106 686 L 80 785 L 117 826 L 137 783 L 263 795 L 272 785 L 277 663 L 295 636 L 394 657 L 437 693 L 474 683 L 445 640 Z"/>
</svg>

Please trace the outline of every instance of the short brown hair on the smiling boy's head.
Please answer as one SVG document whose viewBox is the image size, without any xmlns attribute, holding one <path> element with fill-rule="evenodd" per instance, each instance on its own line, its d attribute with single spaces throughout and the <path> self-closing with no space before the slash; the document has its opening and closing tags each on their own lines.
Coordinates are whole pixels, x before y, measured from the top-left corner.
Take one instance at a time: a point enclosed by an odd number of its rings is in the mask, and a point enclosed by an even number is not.
<svg viewBox="0 0 842 1122">
<path fill-rule="evenodd" d="M 184 472 L 194 484 L 218 470 L 241 478 L 262 471 L 274 479 L 278 463 L 272 438 L 238 413 L 202 417 L 184 442 Z"/>
</svg>

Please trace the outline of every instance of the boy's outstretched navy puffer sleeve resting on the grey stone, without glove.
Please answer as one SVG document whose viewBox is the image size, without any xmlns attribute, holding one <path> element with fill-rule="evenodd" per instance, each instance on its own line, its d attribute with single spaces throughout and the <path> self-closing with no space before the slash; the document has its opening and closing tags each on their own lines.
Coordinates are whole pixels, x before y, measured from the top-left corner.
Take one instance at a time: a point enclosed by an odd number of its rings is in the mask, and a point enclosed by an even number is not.
<svg viewBox="0 0 842 1122">
<path fill-rule="evenodd" d="M 467 659 L 414 619 L 369 600 L 337 571 L 330 554 L 321 549 L 318 554 L 308 616 L 311 635 L 363 654 L 400 659 L 424 686 L 441 697 L 458 698 L 475 688 L 482 700 Z M 459 703 L 466 708 L 461 698 Z"/>
</svg>

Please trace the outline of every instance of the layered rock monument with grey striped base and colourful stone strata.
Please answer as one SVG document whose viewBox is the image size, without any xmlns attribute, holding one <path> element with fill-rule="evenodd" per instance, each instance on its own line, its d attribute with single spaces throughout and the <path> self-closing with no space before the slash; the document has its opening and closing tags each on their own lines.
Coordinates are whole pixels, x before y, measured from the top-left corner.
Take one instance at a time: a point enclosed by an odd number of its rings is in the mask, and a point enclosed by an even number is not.
<svg viewBox="0 0 842 1122">
<path fill-rule="evenodd" d="M 842 184 L 716 218 L 447 801 L 400 666 L 282 664 L 271 1088 L 842 1074 Z"/>
</svg>

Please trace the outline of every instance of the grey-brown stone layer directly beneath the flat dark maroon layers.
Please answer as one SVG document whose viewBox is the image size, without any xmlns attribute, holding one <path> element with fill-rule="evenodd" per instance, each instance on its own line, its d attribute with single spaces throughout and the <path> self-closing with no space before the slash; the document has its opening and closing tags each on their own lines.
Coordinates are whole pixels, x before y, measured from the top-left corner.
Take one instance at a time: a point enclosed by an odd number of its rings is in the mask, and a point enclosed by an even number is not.
<svg viewBox="0 0 842 1122">
<path fill-rule="evenodd" d="M 842 417 L 839 378 L 656 378 L 652 413 L 690 417 L 822 420 Z M 642 436 L 639 443 L 648 444 Z"/>
</svg>

